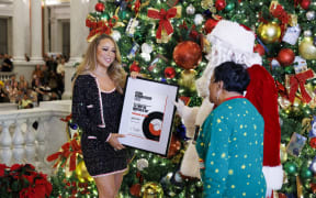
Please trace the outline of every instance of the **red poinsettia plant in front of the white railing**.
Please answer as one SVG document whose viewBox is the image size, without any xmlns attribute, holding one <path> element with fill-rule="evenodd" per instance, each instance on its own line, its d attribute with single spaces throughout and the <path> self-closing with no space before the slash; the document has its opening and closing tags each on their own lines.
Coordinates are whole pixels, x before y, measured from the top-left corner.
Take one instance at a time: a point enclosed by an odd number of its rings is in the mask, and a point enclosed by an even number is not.
<svg viewBox="0 0 316 198">
<path fill-rule="evenodd" d="M 0 195 L 20 198 L 49 197 L 52 184 L 47 176 L 35 170 L 32 164 L 0 164 Z"/>
</svg>

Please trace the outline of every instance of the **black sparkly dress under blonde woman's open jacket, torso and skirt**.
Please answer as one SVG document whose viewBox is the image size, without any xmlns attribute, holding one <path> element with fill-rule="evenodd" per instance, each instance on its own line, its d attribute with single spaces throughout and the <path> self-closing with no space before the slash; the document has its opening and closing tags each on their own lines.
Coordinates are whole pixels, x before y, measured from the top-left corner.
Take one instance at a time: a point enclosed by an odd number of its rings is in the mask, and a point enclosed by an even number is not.
<svg viewBox="0 0 316 198">
<path fill-rule="evenodd" d="M 123 96 L 116 90 L 101 92 L 103 117 L 108 133 L 117 133 Z M 81 139 L 83 161 L 92 177 L 124 172 L 127 167 L 127 150 L 115 151 L 106 141 L 93 139 L 87 133 Z"/>
</svg>

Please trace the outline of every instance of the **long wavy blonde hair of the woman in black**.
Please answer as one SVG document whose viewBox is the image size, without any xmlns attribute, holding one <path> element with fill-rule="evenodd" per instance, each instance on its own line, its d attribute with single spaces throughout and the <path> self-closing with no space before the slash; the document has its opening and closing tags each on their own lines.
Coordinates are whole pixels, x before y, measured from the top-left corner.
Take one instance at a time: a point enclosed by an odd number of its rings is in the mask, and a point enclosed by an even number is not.
<svg viewBox="0 0 316 198">
<path fill-rule="evenodd" d="M 75 80 L 79 75 L 88 74 L 89 72 L 92 72 L 97 67 L 97 48 L 102 40 L 111 40 L 115 45 L 115 59 L 111 64 L 111 66 L 108 68 L 108 75 L 110 78 L 114 81 L 114 85 L 119 92 L 123 94 L 123 88 L 126 80 L 126 73 L 122 68 L 122 59 L 121 59 L 121 53 L 120 48 L 117 46 L 117 43 L 114 41 L 113 37 L 111 37 L 108 34 L 101 34 L 98 37 L 95 37 L 90 45 L 88 46 L 88 50 L 86 52 L 83 61 L 80 63 L 80 65 L 77 67 L 77 73 L 75 76 Z"/>
</svg>

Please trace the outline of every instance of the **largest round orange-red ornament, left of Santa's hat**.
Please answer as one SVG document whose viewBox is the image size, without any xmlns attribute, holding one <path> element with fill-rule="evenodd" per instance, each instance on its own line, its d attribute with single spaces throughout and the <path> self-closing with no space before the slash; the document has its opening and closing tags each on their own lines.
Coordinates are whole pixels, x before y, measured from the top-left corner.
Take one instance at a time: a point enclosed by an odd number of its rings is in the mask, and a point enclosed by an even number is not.
<svg viewBox="0 0 316 198">
<path fill-rule="evenodd" d="M 195 68 L 202 59 L 200 45 L 192 41 L 179 43 L 173 50 L 173 61 L 184 69 Z"/>
</svg>

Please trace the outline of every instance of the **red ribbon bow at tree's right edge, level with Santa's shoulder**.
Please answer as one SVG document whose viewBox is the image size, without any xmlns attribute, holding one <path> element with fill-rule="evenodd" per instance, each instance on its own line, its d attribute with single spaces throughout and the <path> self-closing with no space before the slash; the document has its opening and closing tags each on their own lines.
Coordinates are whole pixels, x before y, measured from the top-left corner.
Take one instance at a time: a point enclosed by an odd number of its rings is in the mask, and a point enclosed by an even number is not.
<svg viewBox="0 0 316 198">
<path fill-rule="evenodd" d="M 291 102 L 294 101 L 295 94 L 296 94 L 296 91 L 297 91 L 297 89 L 298 89 L 298 86 L 300 86 L 300 89 L 301 89 L 303 102 L 308 103 L 308 102 L 312 100 L 312 98 L 311 98 L 311 96 L 307 94 L 304 85 L 305 85 L 305 82 L 306 82 L 307 79 L 313 78 L 313 77 L 314 77 L 314 73 L 313 73 L 311 69 L 308 69 L 308 70 L 306 70 L 306 72 L 304 72 L 304 73 L 300 73 L 300 74 L 296 74 L 296 75 L 292 75 L 292 76 L 290 77 L 290 86 L 291 86 L 291 89 L 290 89 L 289 100 L 290 100 Z"/>
</svg>

